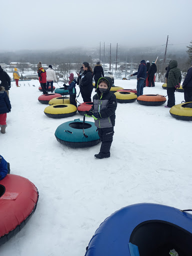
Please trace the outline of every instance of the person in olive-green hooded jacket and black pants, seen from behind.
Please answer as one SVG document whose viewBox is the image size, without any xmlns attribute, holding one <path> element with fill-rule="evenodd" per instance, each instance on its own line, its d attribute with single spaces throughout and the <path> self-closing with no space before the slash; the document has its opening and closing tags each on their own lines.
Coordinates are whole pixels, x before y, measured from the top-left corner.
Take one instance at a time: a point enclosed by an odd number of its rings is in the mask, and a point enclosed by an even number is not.
<svg viewBox="0 0 192 256">
<path fill-rule="evenodd" d="M 181 72 L 180 68 L 177 67 L 177 61 L 171 60 L 169 63 L 170 71 L 168 73 L 168 79 L 167 79 L 167 95 L 168 95 L 168 101 L 167 105 L 164 107 L 172 107 L 175 105 L 175 98 L 174 98 L 174 92 L 175 89 L 180 87 L 181 82 Z"/>
</svg>

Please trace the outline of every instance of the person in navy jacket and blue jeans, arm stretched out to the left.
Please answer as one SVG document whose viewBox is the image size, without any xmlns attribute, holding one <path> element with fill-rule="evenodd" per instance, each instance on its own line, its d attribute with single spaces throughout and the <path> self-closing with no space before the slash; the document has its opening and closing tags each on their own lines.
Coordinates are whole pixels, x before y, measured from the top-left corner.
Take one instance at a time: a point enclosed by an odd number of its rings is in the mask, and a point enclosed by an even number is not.
<svg viewBox="0 0 192 256">
<path fill-rule="evenodd" d="M 132 75 L 137 75 L 136 95 L 138 97 L 143 94 L 143 84 L 146 79 L 146 63 L 144 59 L 140 61 L 137 72 L 130 76 Z"/>
</svg>

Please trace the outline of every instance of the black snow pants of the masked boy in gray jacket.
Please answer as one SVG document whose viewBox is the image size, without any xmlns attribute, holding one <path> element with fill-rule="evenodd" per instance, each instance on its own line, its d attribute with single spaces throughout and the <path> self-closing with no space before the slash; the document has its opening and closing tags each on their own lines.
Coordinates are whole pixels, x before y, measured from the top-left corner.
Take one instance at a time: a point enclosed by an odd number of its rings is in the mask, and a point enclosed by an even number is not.
<svg viewBox="0 0 192 256">
<path fill-rule="evenodd" d="M 101 140 L 100 152 L 102 156 L 110 156 L 110 146 L 112 143 L 112 136 L 114 134 L 113 126 L 108 128 L 97 128 L 98 135 Z"/>
</svg>

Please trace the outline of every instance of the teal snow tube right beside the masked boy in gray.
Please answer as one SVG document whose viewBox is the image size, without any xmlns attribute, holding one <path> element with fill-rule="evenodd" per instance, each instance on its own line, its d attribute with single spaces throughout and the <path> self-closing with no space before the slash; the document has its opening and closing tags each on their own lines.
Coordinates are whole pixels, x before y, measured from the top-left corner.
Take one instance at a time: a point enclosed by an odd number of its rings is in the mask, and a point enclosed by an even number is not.
<svg viewBox="0 0 192 256">
<path fill-rule="evenodd" d="M 70 147 L 88 147 L 100 142 L 94 122 L 84 122 L 84 133 L 87 137 L 83 135 L 82 128 L 83 121 L 74 119 L 60 124 L 56 128 L 54 135 L 58 142 Z"/>
</svg>

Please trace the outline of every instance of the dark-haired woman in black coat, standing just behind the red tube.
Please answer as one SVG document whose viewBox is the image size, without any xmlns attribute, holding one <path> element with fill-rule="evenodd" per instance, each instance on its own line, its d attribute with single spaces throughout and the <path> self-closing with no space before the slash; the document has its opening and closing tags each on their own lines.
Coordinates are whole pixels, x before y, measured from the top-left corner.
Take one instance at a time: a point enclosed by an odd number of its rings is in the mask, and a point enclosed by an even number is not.
<svg viewBox="0 0 192 256">
<path fill-rule="evenodd" d="M 83 102 L 91 102 L 91 92 L 93 89 L 92 68 L 89 66 L 88 62 L 83 62 L 82 68 L 84 72 L 82 73 L 82 75 L 78 74 L 78 76 L 81 79 L 80 93 L 81 93 Z"/>
</svg>

